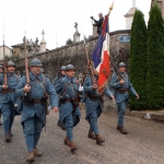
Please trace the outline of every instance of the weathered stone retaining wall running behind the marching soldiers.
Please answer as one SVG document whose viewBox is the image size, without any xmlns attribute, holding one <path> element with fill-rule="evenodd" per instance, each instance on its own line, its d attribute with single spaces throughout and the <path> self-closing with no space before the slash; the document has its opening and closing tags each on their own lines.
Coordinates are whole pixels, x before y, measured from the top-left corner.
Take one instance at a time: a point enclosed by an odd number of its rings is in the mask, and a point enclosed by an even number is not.
<svg viewBox="0 0 164 164">
<path fill-rule="evenodd" d="M 129 42 L 121 43 L 120 37 L 129 36 L 130 31 L 117 31 L 110 33 L 110 55 L 114 59 L 114 62 L 118 65 L 120 61 L 125 61 L 128 63 L 129 58 Z M 95 47 L 97 37 L 91 37 L 86 40 L 89 56 Z M 50 80 L 58 73 L 59 68 L 61 66 L 67 66 L 72 63 L 77 68 L 77 75 L 83 74 L 86 69 L 86 58 L 84 51 L 84 44 L 83 42 L 79 42 L 72 44 L 70 46 L 63 46 L 57 49 L 48 50 L 45 52 L 40 52 L 36 56 L 30 56 L 28 61 L 31 61 L 34 57 L 37 57 L 43 62 L 43 68 L 46 71 L 46 74 L 49 77 Z M 20 59 L 14 61 L 16 65 L 16 70 L 23 72 L 24 70 L 24 59 Z"/>
</svg>

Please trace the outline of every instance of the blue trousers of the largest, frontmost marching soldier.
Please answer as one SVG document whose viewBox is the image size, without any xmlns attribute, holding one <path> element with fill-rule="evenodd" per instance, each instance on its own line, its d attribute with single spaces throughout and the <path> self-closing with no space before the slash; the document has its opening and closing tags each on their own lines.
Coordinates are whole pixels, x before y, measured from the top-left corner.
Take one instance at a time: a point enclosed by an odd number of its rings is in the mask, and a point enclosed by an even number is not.
<svg viewBox="0 0 164 164">
<path fill-rule="evenodd" d="M 36 148 L 40 137 L 40 132 L 43 130 L 43 122 L 38 119 L 36 115 L 23 122 L 25 141 L 28 152 L 33 151 L 34 148 Z"/>
</svg>

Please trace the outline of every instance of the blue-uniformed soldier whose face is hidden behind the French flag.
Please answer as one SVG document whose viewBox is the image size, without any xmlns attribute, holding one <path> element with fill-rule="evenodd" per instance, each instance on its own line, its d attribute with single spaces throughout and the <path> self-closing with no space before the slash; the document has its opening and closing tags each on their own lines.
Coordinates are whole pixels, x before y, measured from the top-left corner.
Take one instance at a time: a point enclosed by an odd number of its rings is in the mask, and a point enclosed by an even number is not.
<svg viewBox="0 0 164 164">
<path fill-rule="evenodd" d="M 94 78 L 95 81 L 97 82 L 98 80 L 98 73 L 96 70 L 94 70 Z M 105 90 L 103 93 L 97 93 L 97 84 L 92 83 L 91 75 L 87 74 L 86 79 L 83 84 L 84 87 L 84 103 L 85 103 L 85 109 L 86 109 L 86 115 L 85 119 L 90 124 L 90 130 L 87 137 L 90 139 L 96 140 L 97 144 L 101 144 L 105 140 L 99 136 L 98 131 L 98 126 L 97 126 L 97 118 L 102 114 L 102 108 L 103 108 L 103 96 L 104 93 L 106 96 L 108 96 L 110 99 L 114 99 L 113 93 L 109 91 L 108 86 L 105 86 Z"/>
</svg>

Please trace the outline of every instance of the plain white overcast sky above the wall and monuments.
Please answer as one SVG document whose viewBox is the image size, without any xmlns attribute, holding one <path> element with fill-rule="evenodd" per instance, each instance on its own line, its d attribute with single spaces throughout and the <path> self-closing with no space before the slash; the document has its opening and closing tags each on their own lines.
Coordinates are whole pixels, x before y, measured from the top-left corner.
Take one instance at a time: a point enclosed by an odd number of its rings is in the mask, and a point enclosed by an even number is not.
<svg viewBox="0 0 164 164">
<path fill-rule="evenodd" d="M 0 45 L 22 43 L 24 31 L 28 39 L 42 40 L 45 31 L 47 48 L 63 46 L 70 37 L 73 39 L 74 22 L 79 23 L 79 32 L 92 35 L 90 16 L 97 17 L 98 12 L 107 14 L 113 0 L 0 0 Z M 149 19 L 151 0 L 136 0 L 136 7 Z M 110 14 L 110 32 L 126 28 L 125 14 L 132 7 L 132 0 L 115 0 Z M 81 39 L 83 36 L 81 35 Z"/>
</svg>

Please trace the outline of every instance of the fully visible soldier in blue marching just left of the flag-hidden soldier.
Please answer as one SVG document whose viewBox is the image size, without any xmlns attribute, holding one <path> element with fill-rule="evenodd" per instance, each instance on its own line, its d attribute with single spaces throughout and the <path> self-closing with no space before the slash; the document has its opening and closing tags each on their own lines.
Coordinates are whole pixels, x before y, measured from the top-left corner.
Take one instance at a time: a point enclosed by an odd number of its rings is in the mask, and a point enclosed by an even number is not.
<svg viewBox="0 0 164 164">
<path fill-rule="evenodd" d="M 65 143 L 70 147 L 71 152 L 78 150 L 73 142 L 73 127 L 80 121 L 79 108 L 79 83 L 74 79 L 74 66 L 68 65 L 66 67 L 66 77 L 57 82 L 56 91 L 60 94 L 60 110 L 61 120 L 66 126 L 67 136 Z"/>
</svg>

